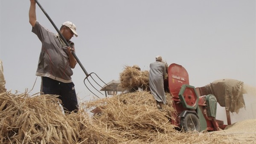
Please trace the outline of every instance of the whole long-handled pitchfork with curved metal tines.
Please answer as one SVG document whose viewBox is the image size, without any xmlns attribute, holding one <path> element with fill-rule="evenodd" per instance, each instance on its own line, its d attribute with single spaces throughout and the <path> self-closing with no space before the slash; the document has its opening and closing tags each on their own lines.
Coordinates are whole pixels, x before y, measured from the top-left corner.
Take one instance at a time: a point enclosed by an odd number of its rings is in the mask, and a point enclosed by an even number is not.
<svg viewBox="0 0 256 144">
<path fill-rule="evenodd" d="M 56 29 L 56 31 L 58 32 L 58 34 L 61 36 L 61 39 L 64 40 L 64 42 L 65 42 L 65 44 L 66 44 L 67 46 L 70 46 L 70 44 L 67 42 L 67 40 L 64 38 L 64 36 L 61 34 L 61 32 L 58 30 L 57 26 L 53 23 L 52 19 L 51 19 L 51 18 L 49 17 L 49 15 L 45 12 L 44 8 L 41 6 L 41 4 L 38 2 L 38 0 L 35 0 L 35 2 L 38 4 L 38 6 L 40 7 L 40 9 L 44 12 L 44 14 L 46 15 L 46 17 L 47 17 L 47 18 L 49 19 L 49 21 L 52 23 L 52 26 Z M 84 78 L 84 85 L 87 87 L 87 89 L 89 89 L 88 86 L 85 84 L 85 80 L 87 80 L 87 81 L 89 82 L 89 84 L 90 84 L 94 89 L 96 89 L 96 88 L 93 86 L 93 84 L 91 84 L 91 82 L 90 82 L 89 79 L 88 79 L 88 78 L 92 78 L 93 81 L 94 81 L 97 85 L 99 85 L 99 84 L 94 80 L 94 78 L 92 77 L 92 74 L 96 75 L 96 73 L 91 72 L 90 74 L 88 74 L 88 72 L 84 69 L 84 66 L 82 65 L 82 63 L 80 62 L 80 60 L 77 58 L 75 52 L 72 51 L 72 54 L 73 54 L 73 56 L 76 58 L 77 63 L 79 63 L 79 65 L 81 66 L 82 70 L 84 71 L 84 73 L 85 73 L 85 75 L 86 75 L 86 77 Z M 99 78 L 98 75 L 96 75 L 96 77 Z M 99 78 L 99 80 L 102 81 L 101 78 Z M 106 86 L 108 86 L 108 84 L 106 84 L 104 81 L 102 81 L 102 82 L 103 82 Z M 99 86 L 100 86 L 100 85 L 99 85 Z M 102 86 L 100 86 L 100 87 L 103 88 Z M 98 89 L 96 89 L 96 90 L 97 90 L 99 93 L 102 94 L 102 92 L 100 92 Z M 90 89 L 89 89 L 89 91 L 92 92 Z M 92 92 L 92 93 L 93 93 L 93 92 Z M 93 93 L 93 95 L 95 95 L 95 94 Z M 102 94 L 102 95 L 103 95 L 103 94 Z M 99 98 L 99 96 L 97 96 L 97 95 L 95 95 L 95 96 Z M 106 96 L 107 96 L 107 95 L 106 95 Z"/>
</svg>

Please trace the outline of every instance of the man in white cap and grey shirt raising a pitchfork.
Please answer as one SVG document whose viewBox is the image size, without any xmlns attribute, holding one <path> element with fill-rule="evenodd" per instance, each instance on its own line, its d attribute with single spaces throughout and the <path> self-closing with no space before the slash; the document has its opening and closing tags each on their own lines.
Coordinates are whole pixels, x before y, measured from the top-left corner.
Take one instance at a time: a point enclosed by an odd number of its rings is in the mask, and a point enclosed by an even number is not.
<svg viewBox="0 0 256 144">
<path fill-rule="evenodd" d="M 70 44 L 66 46 L 60 35 L 54 34 L 36 20 L 35 0 L 30 0 L 29 23 L 32 32 L 42 43 L 36 75 L 41 76 L 41 92 L 43 94 L 59 95 L 66 112 L 77 112 L 78 102 L 76 91 L 71 79 L 72 69 L 76 66 L 74 43 L 70 39 L 76 33 L 76 26 L 69 21 L 62 24 L 61 34 Z M 72 69 L 71 69 L 72 68 Z"/>
</svg>

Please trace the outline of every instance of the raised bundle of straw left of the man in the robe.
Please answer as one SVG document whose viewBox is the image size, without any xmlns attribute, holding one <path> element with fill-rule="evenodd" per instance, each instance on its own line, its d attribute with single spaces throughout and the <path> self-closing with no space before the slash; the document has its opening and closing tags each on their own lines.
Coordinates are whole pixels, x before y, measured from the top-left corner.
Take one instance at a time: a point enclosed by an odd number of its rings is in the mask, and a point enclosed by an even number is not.
<svg viewBox="0 0 256 144">
<path fill-rule="evenodd" d="M 149 72 L 146 70 L 140 71 L 132 66 L 125 66 L 119 76 L 122 88 L 128 92 L 135 92 L 138 89 L 149 90 Z"/>
</svg>

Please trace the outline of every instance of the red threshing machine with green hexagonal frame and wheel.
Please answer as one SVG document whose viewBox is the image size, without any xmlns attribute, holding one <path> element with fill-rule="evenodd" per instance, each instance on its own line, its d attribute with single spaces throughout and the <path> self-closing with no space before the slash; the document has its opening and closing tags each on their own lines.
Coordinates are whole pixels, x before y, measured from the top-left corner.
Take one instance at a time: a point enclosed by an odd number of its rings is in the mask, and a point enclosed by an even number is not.
<svg viewBox="0 0 256 144">
<path fill-rule="evenodd" d="M 197 131 L 215 131 L 226 127 L 223 121 L 216 120 L 214 114 L 209 115 L 209 111 L 217 109 L 217 105 L 207 105 L 207 102 L 214 100 L 214 95 L 198 95 L 195 87 L 189 85 L 189 75 L 183 66 L 175 63 L 169 66 L 168 85 L 176 109 L 172 124 L 185 126 L 185 129 L 194 128 Z M 196 127 L 195 123 L 198 122 L 199 126 Z"/>
</svg>

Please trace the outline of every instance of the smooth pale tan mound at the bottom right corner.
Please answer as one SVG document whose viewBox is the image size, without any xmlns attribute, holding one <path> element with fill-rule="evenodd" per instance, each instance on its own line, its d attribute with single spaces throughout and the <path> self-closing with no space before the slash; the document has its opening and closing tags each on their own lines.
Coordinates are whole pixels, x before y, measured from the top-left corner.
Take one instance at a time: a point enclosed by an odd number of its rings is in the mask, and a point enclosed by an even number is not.
<svg viewBox="0 0 256 144">
<path fill-rule="evenodd" d="M 239 121 L 212 133 L 226 136 L 228 144 L 256 144 L 256 119 Z"/>
</svg>

